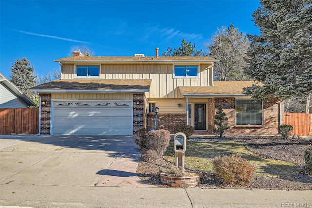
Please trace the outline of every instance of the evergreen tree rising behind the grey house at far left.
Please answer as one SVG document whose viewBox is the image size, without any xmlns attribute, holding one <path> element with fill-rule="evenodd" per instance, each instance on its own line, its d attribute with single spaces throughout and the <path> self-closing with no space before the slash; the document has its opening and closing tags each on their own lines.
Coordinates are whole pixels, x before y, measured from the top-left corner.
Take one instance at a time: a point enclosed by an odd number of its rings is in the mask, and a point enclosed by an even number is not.
<svg viewBox="0 0 312 208">
<path fill-rule="evenodd" d="M 34 93 L 27 91 L 35 86 L 34 66 L 30 66 L 30 61 L 25 57 L 15 60 L 11 69 L 11 82 L 29 98 L 34 99 Z"/>
</svg>

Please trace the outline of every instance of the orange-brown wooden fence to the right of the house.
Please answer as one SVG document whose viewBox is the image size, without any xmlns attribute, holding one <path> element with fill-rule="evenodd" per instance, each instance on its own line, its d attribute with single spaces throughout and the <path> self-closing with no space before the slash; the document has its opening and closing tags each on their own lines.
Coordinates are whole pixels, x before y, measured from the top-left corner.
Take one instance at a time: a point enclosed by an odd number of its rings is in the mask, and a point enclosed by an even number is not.
<svg viewBox="0 0 312 208">
<path fill-rule="evenodd" d="M 312 136 L 312 114 L 285 112 L 285 124 L 292 125 L 292 134 Z"/>
</svg>

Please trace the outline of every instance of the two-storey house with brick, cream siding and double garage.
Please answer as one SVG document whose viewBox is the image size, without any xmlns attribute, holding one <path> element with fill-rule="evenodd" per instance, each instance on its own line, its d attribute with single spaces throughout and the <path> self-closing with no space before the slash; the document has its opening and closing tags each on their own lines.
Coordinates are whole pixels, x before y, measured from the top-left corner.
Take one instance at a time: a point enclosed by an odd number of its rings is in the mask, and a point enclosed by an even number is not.
<svg viewBox="0 0 312 208">
<path fill-rule="evenodd" d="M 133 135 L 140 128 L 170 131 L 189 124 L 212 133 L 222 106 L 231 134 L 277 134 L 283 103 L 250 102 L 243 87 L 253 82 L 214 82 L 209 57 L 72 57 L 55 60 L 61 80 L 36 86 L 41 96 L 42 134 Z M 40 102 L 41 103 L 41 102 Z"/>
</svg>

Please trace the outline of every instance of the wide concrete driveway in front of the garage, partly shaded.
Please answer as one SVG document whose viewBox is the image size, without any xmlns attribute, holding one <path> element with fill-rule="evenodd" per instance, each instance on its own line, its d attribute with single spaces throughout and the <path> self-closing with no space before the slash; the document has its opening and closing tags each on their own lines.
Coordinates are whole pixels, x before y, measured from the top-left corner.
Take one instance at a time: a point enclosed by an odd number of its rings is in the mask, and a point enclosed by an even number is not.
<svg viewBox="0 0 312 208">
<path fill-rule="evenodd" d="M 95 186 L 117 156 L 137 154 L 136 146 L 128 147 L 131 136 L 0 138 L 0 184 Z"/>
</svg>

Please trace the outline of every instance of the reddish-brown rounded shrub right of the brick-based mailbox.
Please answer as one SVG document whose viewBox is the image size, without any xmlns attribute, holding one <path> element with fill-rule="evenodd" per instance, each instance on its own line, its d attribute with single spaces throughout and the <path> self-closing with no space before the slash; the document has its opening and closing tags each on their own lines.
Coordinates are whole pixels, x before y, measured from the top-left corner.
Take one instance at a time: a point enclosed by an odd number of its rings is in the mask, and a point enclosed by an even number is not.
<svg viewBox="0 0 312 208">
<path fill-rule="evenodd" d="M 239 155 L 215 157 L 213 169 L 227 184 L 234 186 L 248 184 L 254 179 L 254 166 Z"/>
</svg>

